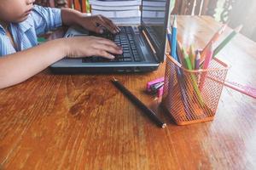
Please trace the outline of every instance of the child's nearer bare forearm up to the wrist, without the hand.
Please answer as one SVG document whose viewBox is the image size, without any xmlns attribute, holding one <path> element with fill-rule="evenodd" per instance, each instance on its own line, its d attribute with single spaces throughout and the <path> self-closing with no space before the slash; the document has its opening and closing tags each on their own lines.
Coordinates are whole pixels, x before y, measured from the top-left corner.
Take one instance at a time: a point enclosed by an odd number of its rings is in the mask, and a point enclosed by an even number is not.
<svg viewBox="0 0 256 170">
<path fill-rule="evenodd" d="M 23 82 L 66 55 L 65 40 L 56 39 L 0 58 L 0 88 Z"/>
</svg>

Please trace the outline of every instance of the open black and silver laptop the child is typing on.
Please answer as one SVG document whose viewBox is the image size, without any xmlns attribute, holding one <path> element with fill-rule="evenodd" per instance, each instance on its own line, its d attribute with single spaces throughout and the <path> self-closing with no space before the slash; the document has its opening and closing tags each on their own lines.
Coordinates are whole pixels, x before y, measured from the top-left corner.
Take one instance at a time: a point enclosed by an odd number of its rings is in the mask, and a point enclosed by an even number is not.
<svg viewBox="0 0 256 170">
<path fill-rule="evenodd" d="M 100 56 L 79 59 L 64 58 L 50 70 L 56 74 L 148 72 L 155 71 L 165 59 L 166 28 L 171 13 L 170 0 L 142 0 L 142 16 L 139 26 L 119 26 L 118 34 L 104 32 L 96 34 L 79 27 L 70 27 L 64 37 L 99 36 L 106 37 L 123 47 L 123 54 L 115 59 Z"/>
</svg>

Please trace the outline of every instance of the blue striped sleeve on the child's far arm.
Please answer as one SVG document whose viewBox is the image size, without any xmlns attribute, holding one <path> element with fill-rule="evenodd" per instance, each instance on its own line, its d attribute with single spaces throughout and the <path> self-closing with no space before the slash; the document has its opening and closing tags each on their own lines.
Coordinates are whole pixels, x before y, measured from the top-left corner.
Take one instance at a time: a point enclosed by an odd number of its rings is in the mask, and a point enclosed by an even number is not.
<svg viewBox="0 0 256 170">
<path fill-rule="evenodd" d="M 60 8 L 44 8 L 35 5 L 32 11 L 32 18 L 37 35 L 62 26 Z"/>
</svg>

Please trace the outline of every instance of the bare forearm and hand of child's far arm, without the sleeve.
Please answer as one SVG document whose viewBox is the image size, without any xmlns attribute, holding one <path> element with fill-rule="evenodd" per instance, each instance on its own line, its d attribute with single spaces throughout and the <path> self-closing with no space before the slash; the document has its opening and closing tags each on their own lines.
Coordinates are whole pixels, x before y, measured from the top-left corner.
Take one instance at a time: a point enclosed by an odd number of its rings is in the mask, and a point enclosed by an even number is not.
<svg viewBox="0 0 256 170">
<path fill-rule="evenodd" d="M 71 8 L 61 9 L 61 20 L 63 25 L 78 25 L 89 31 L 96 31 L 97 33 L 102 33 L 102 26 L 113 34 L 119 32 L 119 27 L 114 25 L 112 20 L 102 15 L 86 16 Z"/>
</svg>

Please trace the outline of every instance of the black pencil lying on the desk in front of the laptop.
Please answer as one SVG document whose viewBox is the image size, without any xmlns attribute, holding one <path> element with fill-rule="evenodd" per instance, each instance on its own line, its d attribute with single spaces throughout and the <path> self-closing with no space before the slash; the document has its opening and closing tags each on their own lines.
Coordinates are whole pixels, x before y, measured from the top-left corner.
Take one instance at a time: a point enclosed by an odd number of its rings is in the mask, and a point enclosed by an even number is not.
<svg viewBox="0 0 256 170">
<path fill-rule="evenodd" d="M 154 121 L 158 126 L 160 126 L 162 128 L 166 127 L 166 123 L 161 122 L 160 119 L 154 114 L 154 111 L 151 111 L 146 105 L 143 104 L 143 102 L 141 102 L 139 99 L 137 99 L 137 97 L 135 95 L 131 94 L 131 92 L 127 88 L 125 88 L 117 79 L 113 78 L 112 82 L 116 88 L 119 88 L 119 90 L 123 94 L 125 94 L 129 99 L 131 99 L 131 101 L 135 105 L 137 105 L 141 110 L 143 110 L 146 113 L 146 115 L 152 121 Z"/>
</svg>

